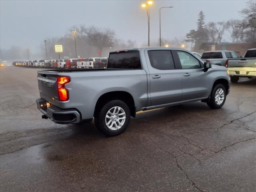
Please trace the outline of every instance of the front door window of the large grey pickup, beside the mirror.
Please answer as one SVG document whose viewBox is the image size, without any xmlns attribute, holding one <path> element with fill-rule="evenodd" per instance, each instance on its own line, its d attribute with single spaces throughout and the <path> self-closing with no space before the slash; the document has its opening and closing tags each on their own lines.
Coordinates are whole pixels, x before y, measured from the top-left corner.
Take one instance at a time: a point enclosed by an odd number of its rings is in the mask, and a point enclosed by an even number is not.
<svg viewBox="0 0 256 192">
<path fill-rule="evenodd" d="M 177 51 L 178 56 L 180 58 L 180 64 L 182 69 L 197 69 L 201 68 L 199 60 L 194 58 L 187 52 L 184 51 Z"/>
</svg>

